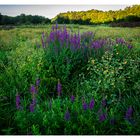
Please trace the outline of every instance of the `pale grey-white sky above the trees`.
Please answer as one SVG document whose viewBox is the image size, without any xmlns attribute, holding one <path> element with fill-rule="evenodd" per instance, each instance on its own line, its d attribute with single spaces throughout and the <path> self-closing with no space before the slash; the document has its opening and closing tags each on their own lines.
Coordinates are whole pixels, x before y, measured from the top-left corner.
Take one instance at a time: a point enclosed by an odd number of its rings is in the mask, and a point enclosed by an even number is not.
<svg viewBox="0 0 140 140">
<path fill-rule="evenodd" d="M 67 11 L 87 11 L 97 10 L 119 10 L 129 5 L 0 5 L 2 15 L 17 16 L 22 13 L 31 15 L 40 15 L 47 18 L 53 18 L 59 13 Z"/>
</svg>

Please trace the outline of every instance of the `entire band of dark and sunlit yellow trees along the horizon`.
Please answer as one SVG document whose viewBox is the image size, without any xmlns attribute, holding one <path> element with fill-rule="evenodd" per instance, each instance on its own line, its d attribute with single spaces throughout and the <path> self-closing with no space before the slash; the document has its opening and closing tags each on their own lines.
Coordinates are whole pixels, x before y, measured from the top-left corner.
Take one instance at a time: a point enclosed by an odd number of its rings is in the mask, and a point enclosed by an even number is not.
<svg viewBox="0 0 140 140">
<path fill-rule="evenodd" d="M 42 16 L 32 16 L 21 14 L 16 17 L 10 17 L 0 14 L 0 25 L 37 25 L 37 24 L 109 24 L 110 26 L 136 27 L 140 26 L 140 5 L 126 7 L 124 10 L 117 11 L 68 11 L 60 13 L 52 19 Z"/>
</svg>

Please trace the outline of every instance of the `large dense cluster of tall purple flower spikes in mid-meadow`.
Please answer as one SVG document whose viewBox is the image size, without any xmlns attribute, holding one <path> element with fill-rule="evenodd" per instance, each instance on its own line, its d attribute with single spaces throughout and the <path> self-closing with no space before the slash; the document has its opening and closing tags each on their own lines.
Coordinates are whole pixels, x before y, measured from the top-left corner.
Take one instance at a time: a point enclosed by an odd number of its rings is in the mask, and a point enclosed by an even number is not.
<svg viewBox="0 0 140 140">
<path fill-rule="evenodd" d="M 47 48 L 52 47 L 52 51 L 55 55 L 59 55 L 63 48 L 69 49 L 73 52 L 82 52 L 83 57 L 91 57 L 94 52 L 97 53 L 98 50 L 103 50 L 97 55 L 102 55 L 104 51 L 112 51 L 115 44 L 121 44 L 127 46 L 129 49 L 132 45 L 126 43 L 123 38 L 117 38 L 116 41 L 112 41 L 109 38 L 106 39 L 94 39 L 95 33 L 87 31 L 83 33 L 73 33 L 69 31 L 66 26 L 58 27 L 58 24 L 52 26 L 49 34 L 42 33 L 41 42 L 42 47 Z M 96 50 L 96 51 L 95 51 Z M 93 52 L 93 53 L 92 53 Z M 85 58 L 85 60 L 86 60 Z"/>
</svg>

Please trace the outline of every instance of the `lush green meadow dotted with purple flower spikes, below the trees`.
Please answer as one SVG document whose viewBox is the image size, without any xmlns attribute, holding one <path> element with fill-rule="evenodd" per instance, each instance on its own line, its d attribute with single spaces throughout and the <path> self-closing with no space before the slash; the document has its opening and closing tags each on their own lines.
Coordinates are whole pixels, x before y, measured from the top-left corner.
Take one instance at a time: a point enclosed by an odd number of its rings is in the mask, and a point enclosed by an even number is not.
<svg viewBox="0 0 140 140">
<path fill-rule="evenodd" d="M 1 135 L 140 134 L 140 27 L 0 30 Z"/>
</svg>

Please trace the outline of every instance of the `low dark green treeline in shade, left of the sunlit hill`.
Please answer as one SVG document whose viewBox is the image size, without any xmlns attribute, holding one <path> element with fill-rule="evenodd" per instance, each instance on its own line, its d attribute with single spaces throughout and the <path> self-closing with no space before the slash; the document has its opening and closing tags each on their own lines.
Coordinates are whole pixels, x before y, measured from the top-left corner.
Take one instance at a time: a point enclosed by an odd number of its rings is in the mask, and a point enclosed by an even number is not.
<svg viewBox="0 0 140 140">
<path fill-rule="evenodd" d="M 0 13 L 0 25 L 29 25 L 29 24 L 48 24 L 51 20 L 42 16 L 32 16 L 21 14 L 16 17 L 2 15 Z"/>
</svg>

